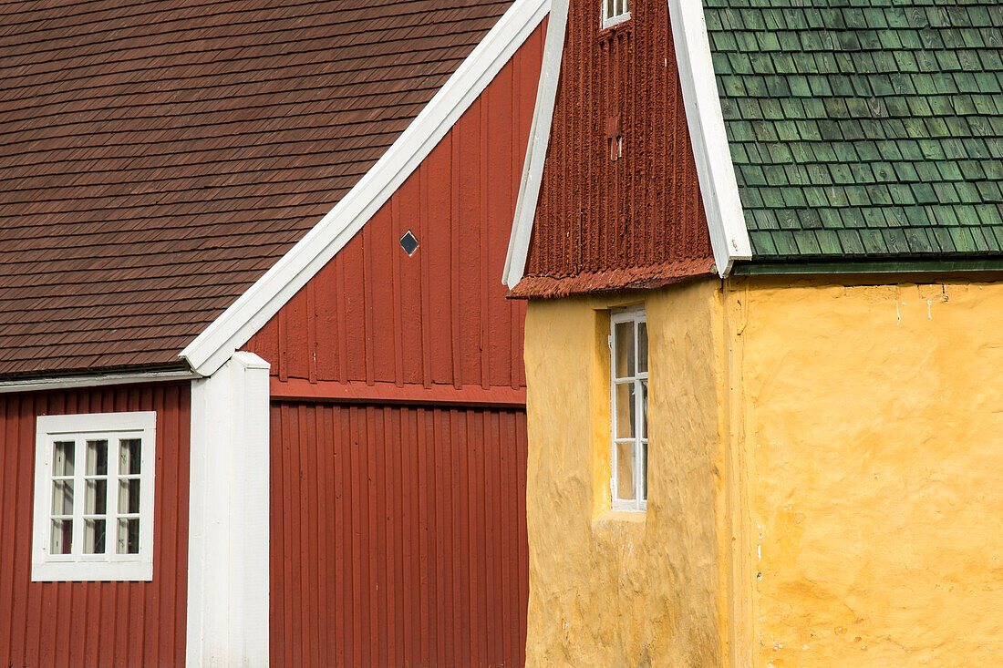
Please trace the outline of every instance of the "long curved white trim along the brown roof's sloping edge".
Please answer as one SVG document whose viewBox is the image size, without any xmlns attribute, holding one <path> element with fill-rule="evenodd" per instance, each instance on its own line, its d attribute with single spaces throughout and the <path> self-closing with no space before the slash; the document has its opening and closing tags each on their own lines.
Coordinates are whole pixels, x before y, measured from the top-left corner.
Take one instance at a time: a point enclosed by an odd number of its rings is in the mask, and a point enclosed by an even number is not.
<svg viewBox="0 0 1003 668">
<path fill-rule="evenodd" d="M 383 156 L 307 235 L 182 351 L 202 375 L 219 369 L 320 271 L 445 136 L 547 15 L 516 0 Z"/>
</svg>

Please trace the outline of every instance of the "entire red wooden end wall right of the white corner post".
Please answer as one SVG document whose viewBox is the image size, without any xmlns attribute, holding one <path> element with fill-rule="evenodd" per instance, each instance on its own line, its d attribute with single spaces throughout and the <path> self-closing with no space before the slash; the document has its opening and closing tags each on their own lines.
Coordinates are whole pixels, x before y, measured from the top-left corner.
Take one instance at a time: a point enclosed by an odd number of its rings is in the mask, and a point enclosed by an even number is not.
<svg viewBox="0 0 1003 668">
<path fill-rule="evenodd" d="M 500 280 L 545 30 L 245 346 L 273 373 L 273 665 L 525 661 L 525 305 Z"/>
</svg>

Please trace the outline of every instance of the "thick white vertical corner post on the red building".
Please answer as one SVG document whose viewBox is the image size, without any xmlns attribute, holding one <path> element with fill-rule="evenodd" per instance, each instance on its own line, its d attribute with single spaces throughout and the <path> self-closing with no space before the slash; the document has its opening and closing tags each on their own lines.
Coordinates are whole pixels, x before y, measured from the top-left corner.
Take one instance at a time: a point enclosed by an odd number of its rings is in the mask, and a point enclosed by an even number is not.
<svg viewBox="0 0 1003 668">
<path fill-rule="evenodd" d="M 268 666 L 268 369 L 237 352 L 192 382 L 190 668 Z"/>
</svg>

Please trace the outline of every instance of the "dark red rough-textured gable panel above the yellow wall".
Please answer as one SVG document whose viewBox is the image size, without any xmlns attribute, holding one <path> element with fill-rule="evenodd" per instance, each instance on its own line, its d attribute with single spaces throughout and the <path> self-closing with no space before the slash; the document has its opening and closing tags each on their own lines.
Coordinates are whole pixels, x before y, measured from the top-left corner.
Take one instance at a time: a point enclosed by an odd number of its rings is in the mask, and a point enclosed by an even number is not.
<svg viewBox="0 0 1003 668">
<path fill-rule="evenodd" d="M 571 2 L 526 278 L 514 296 L 654 287 L 711 270 L 668 3 L 636 0 L 631 15 L 601 30 L 598 3 Z"/>
</svg>

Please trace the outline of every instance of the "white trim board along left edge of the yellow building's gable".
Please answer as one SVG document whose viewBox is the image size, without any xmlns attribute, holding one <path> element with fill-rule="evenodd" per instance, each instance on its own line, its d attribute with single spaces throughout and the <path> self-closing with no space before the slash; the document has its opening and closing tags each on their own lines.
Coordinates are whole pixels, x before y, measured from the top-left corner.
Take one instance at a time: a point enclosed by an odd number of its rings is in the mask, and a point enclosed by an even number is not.
<svg viewBox="0 0 1003 668">
<path fill-rule="evenodd" d="M 564 55 L 565 30 L 568 27 L 568 0 L 552 0 L 551 17 L 547 24 L 547 41 L 544 43 L 544 62 L 537 88 L 537 104 L 533 110 L 530 142 L 523 162 L 523 179 L 519 184 L 516 215 L 509 235 L 509 252 L 505 259 L 501 283 L 513 288 L 523 279 L 526 258 L 533 237 L 533 219 L 537 215 L 537 201 L 544 178 L 547 147 L 551 142 L 551 123 L 554 104 L 561 80 L 561 59 Z"/>
</svg>

